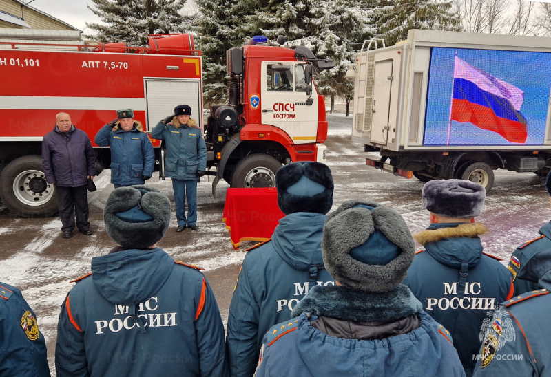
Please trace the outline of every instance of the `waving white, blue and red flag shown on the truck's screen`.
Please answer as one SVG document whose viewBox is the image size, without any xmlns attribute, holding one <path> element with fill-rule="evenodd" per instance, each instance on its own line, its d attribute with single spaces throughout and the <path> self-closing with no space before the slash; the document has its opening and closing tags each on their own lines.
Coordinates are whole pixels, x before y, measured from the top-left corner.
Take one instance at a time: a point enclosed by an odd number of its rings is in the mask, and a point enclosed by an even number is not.
<svg viewBox="0 0 551 377">
<path fill-rule="evenodd" d="M 526 118 L 520 112 L 523 100 L 521 89 L 455 55 L 450 122 L 470 122 L 497 132 L 510 142 L 524 143 L 528 131 Z"/>
</svg>

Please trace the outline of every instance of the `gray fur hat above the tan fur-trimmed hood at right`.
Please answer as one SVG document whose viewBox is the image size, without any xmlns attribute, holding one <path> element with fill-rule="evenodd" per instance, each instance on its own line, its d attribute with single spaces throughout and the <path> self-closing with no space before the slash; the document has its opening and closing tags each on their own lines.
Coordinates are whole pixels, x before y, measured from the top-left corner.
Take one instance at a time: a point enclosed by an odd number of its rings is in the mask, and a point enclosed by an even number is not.
<svg viewBox="0 0 551 377">
<path fill-rule="evenodd" d="M 486 189 L 466 180 L 433 180 L 423 186 L 421 197 L 429 212 L 464 219 L 480 215 Z"/>
</svg>

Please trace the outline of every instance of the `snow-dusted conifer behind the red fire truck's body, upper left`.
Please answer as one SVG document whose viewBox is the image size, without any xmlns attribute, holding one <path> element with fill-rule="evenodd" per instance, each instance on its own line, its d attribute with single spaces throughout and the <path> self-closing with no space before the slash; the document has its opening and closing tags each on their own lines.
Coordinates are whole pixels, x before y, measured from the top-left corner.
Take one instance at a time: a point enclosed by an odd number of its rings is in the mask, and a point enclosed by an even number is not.
<svg viewBox="0 0 551 377">
<path fill-rule="evenodd" d="M 87 35 L 100 42 L 124 41 L 145 46 L 149 34 L 168 34 L 183 30 L 178 14 L 185 0 L 92 0 L 87 6 L 102 23 L 86 23 L 97 34 Z"/>
</svg>

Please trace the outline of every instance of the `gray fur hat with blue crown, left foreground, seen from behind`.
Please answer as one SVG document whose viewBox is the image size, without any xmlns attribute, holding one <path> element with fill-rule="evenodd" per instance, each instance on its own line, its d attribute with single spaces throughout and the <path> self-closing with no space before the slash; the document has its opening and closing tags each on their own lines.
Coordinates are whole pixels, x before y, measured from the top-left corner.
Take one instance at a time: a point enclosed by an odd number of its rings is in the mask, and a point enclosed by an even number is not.
<svg viewBox="0 0 551 377">
<path fill-rule="evenodd" d="M 103 211 L 105 230 L 125 248 L 156 244 L 170 224 L 170 201 L 158 190 L 143 185 L 114 189 Z"/>
</svg>

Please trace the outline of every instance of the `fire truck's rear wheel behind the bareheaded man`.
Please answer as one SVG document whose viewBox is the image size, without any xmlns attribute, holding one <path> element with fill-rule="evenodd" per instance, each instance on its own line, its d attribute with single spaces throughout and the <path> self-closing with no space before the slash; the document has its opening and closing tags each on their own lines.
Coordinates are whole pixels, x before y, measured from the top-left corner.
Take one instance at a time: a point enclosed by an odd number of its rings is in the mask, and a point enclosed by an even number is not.
<svg viewBox="0 0 551 377">
<path fill-rule="evenodd" d="M 51 216 L 57 212 L 55 186 L 46 182 L 39 155 L 17 158 L 2 170 L 0 197 L 12 213 L 22 217 Z"/>
</svg>

